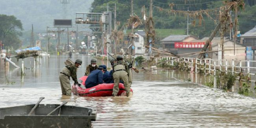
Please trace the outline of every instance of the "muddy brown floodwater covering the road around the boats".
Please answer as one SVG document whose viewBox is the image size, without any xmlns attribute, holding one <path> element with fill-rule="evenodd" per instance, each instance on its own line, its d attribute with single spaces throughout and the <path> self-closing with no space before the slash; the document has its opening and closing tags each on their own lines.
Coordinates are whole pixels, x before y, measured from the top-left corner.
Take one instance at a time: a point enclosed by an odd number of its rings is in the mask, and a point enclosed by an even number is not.
<svg viewBox="0 0 256 128">
<path fill-rule="evenodd" d="M 72 60 L 78 57 L 83 60 L 79 78 L 90 57 L 79 55 Z M 38 65 L 34 65 L 33 59 L 25 59 L 24 77 L 21 69 L 12 65 L 4 69 L 1 60 L 0 107 L 36 103 L 39 97 L 45 97 L 41 103 L 66 100 L 68 105 L 97 109 L 94 128 L 256 127 L 254 98 L 210 89 L 200 84 L 203 77 L 198 77 L 197 83 L 184 82 L 186 74 L 173 70 L 133 72 L 134 94 L 129 98 L 62 96 L 59 72 L 66 59 L 67 56 L 42 58 Z"/>
</svg>

